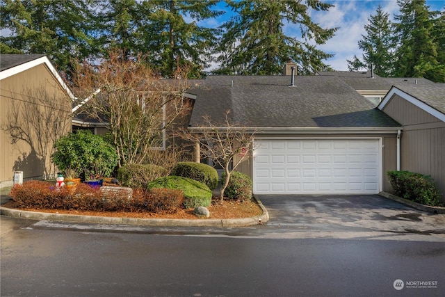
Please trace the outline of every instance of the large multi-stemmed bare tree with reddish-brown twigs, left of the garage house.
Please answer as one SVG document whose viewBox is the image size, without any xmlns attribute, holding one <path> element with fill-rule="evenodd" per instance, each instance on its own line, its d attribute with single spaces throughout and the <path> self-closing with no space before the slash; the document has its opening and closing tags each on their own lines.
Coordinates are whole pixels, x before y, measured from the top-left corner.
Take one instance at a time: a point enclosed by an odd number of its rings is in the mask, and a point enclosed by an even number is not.
<svg viewBox="0 0 445 297">
<path fill-rule="evenodd" d="M 122 51 L 110 51 L 100 65 L 77 63 L 73 84 L 81 96 L 82 112 L 108 122 L 119 166 L 147 162 L 150 151 L 165 149 L 165 130 L 188 109 L 183 96 L 187 71 L 163 80 L 144 62 L 143 56 L 127 59 Z"/>
</svg>

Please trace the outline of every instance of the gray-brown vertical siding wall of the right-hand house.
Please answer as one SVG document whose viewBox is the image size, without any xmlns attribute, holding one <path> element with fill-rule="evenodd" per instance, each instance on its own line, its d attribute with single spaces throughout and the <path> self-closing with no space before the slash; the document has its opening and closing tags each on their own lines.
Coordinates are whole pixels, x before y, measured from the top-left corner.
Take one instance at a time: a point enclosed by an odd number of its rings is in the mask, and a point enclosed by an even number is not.
<svg viewBox="0 0 445 297">
<path fill-rule="evenodd" d="M 398 95 L 389 100 L 383 111 L 403 125 L 401 170 L 430 175 L 444 194 L 445 122 Z"/>
</svg>

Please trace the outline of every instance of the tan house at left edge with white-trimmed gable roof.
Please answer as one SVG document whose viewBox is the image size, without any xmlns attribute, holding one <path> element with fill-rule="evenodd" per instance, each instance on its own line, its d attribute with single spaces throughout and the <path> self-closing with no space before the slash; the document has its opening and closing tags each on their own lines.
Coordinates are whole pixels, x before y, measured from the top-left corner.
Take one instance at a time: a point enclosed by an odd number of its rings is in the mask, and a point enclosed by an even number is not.
<svg viewBox="0 0 445 297">
<path fill-rule="evenodd" d="M 72 95 L 44 54 L 0 56 L 0 187 L 55 175 L 54 141 L 71 131 Z"/>
</svg>

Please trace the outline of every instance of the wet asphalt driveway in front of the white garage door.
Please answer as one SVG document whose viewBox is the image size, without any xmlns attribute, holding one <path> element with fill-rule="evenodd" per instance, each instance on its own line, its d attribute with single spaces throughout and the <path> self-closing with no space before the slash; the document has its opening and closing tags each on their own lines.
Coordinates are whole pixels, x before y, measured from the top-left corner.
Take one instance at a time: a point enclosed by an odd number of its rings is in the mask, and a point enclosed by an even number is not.
<svg viewBox="0 0 445 297">
<path fill-rule="evenodd" d="M 430 214 L 379 195 L 257 195 L 268 227 L 307 232 L 445 234 L 445 215 Z M 352 233 L 350 233 L 352 234 Z"/>
</svg>

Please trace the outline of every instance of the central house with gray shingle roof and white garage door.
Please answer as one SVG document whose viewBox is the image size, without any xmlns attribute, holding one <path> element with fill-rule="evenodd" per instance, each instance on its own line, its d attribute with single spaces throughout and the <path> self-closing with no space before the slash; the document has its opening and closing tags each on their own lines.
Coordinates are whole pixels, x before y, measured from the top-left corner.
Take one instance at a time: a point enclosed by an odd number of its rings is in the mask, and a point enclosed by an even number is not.
<svg viewBox="0 0 445 297">
<path fill-rule="evenodd" d="M 373 80 L 373 78 L 368 78 Z M 238 169 L 255 194 L 375 194 L 391 191 L 402 125 L 335 75 L 209 76 L 196 97 L 188 129 L 202 116 L 257 129 L 254 151 Z"/>
</svg>

